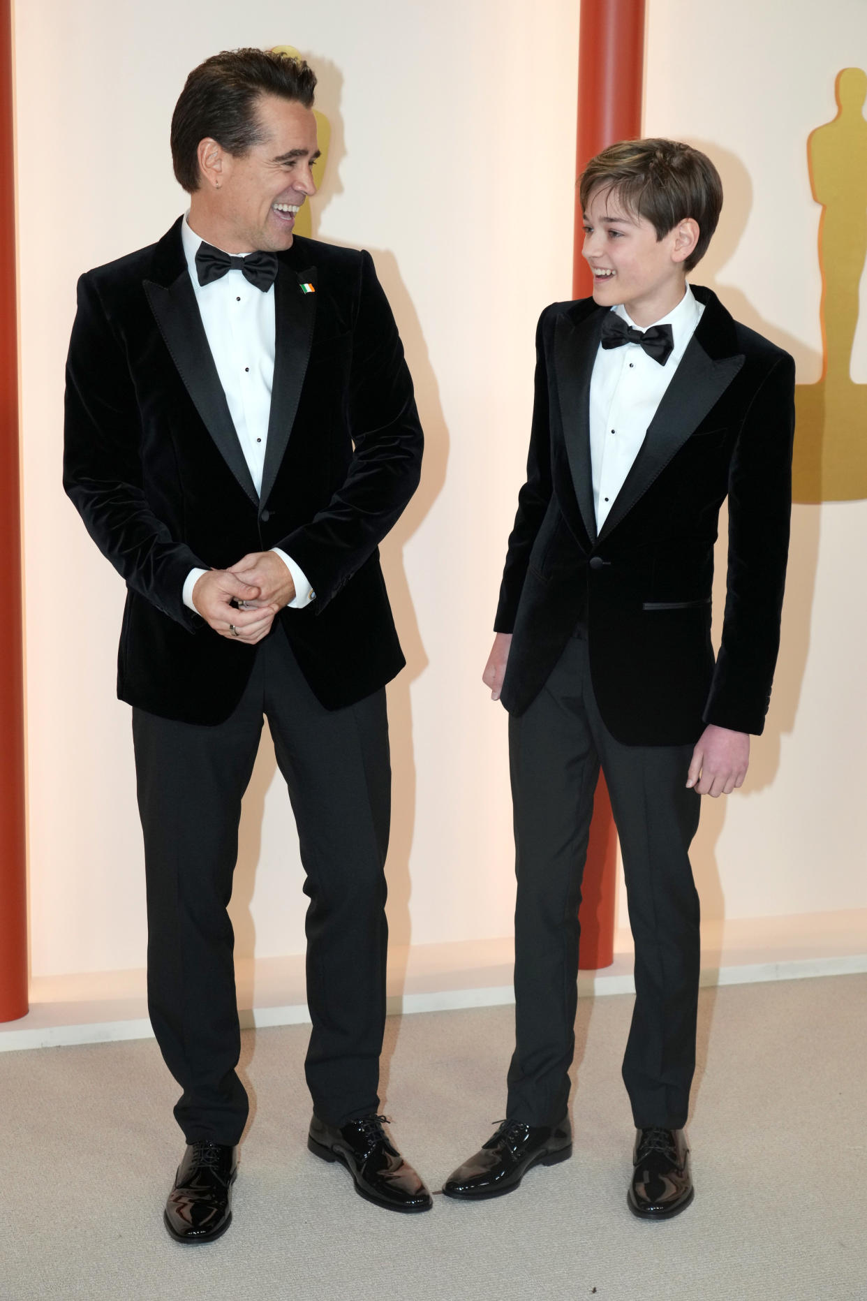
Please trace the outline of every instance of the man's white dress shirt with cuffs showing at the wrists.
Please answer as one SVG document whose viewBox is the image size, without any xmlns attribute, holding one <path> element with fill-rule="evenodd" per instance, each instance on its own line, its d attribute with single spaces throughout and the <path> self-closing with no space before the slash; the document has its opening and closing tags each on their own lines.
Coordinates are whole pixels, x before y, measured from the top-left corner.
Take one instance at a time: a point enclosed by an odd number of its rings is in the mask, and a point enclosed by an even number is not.
<svg viewBox="0 0 867 1301">
<path fill-rule="evenodd" d="M 188 213 L 181 224 L 181 239 L 192 290 L 208 347 L 226 394 L 231 423 L 259 493 L 268 446 L 270 390 L 274 382 L 274 286 L 263 294 L 261 289 L 256 289 L 244 278 L 243 272 L 235 269 L 227 271 L 209 285 L 200 285 L 196 252 L 204 241 L 190 228 L 187 217 Z M 300 609 L 309 605 L 316 593 L 303 570 L 278 546 L 273 546 L 272 550 L 283 561 L 295 583 L 295 598 L 289 602 L 290 606 Z M 195 609 L 192 588 L 205 572 L 207 570 L 194 569 L 187 574 L 183 604 L 191 610 Z"/>
</svg>

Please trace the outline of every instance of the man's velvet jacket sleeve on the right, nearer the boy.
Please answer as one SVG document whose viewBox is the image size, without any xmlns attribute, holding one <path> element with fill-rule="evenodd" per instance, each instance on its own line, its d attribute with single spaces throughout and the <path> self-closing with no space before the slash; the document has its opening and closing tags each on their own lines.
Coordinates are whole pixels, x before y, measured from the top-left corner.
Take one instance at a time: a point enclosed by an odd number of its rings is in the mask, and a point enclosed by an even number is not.
<svg viewBox="0 0 867 1301">
<path fill-rule="evenodd" d="M 318 614 L 373 554 L 419 485 L 424 436 L 389 301 L 361 252 L 348 427 L 354 455 L 328 506 L 277 545 L 316 591 Z"/>
</svg>

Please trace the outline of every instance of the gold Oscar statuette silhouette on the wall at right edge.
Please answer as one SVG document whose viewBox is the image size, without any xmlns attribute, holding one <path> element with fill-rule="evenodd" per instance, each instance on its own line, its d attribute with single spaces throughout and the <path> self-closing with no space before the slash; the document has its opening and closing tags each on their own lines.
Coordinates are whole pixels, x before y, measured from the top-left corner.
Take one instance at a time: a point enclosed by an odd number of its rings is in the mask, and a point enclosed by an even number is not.
<svg viewBox="0 0 867 1301">
<path fill-rule="evenodd" d="M 851 380 L 858 294 L 867 258 L 867 73 L 837 77 L 837 116 L 807 141 L 812 196 L 822 204 L 822 337 L 818 384 L 796 388 L 792 497 L 798 502 L 867 497 L 867 384 Z"/>
</svg>

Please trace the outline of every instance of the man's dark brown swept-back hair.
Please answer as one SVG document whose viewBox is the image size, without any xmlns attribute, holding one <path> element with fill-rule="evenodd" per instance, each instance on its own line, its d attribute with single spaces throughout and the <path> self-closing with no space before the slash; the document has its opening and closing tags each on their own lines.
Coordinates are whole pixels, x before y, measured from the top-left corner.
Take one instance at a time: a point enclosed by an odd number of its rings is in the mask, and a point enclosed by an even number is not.
<svg viewBox="0 0 867 1301">
<path fill-rule="evenodd" d="M 199 142 L 211 137 L 243 157 L 263 139 L 261 95 L 313 104 L 316 73 L 303 59 L 269 49 L 224 49 L 194 68 L 172 114 L 172 163 L 178 183 L 199 189 Z"/>
</svg>

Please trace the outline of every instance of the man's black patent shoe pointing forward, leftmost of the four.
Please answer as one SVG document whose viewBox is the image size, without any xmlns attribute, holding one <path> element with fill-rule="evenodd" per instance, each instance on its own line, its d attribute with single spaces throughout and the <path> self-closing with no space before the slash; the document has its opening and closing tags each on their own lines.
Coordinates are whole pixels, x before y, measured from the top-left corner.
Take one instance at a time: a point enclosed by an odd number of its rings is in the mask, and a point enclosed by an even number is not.
<svg viewBox="0 0 867 1301">
<path fill-rule="evenodd" d="M 190 1144 L 162 1215 L 175 1242 L 213 1242 L 226 1232 L 237 1176 L 237 1147 L 204 1138 Z"/>
</svg>

